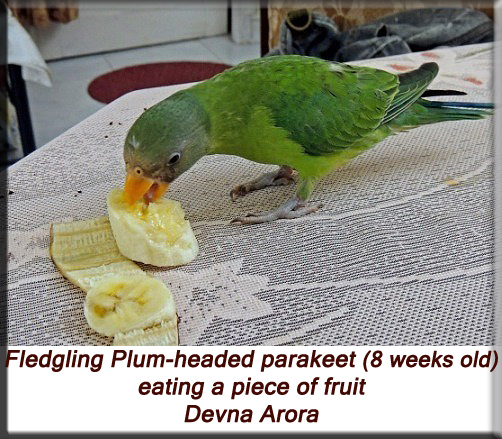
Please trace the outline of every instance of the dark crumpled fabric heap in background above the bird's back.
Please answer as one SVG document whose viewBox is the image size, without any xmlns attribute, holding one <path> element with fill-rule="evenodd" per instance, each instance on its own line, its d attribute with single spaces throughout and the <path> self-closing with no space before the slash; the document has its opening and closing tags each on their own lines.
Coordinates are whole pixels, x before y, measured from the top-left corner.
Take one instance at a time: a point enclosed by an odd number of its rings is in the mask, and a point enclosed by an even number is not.
<svg viewBox="0 0 502 439">
<path fill-rule="evenodd" d="M 279 47 L 268 55 L 298 54 L 353 61 L 493 41 L 493 22 L 467 8 L 424 8 L 387 15 L 340 32 L 336 23 L 306 9 L 281 24 Z"/>
</svg>

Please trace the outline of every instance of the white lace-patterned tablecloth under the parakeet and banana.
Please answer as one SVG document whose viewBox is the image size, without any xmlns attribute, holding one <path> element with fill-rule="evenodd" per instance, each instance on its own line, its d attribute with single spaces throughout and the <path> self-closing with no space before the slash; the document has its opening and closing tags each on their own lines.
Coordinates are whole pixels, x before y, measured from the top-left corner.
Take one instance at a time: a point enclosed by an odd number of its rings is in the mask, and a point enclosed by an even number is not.
<svg viewBox="0 0 502 439">
<path fill-rule="evenodd" d="M 405 71 L 434 60 L 433 88 L 492 101 L 492 45 L 360 62 Z M 8 172 L 8 342 L 107 345 L 84 318 L 84 293 L 48 255 L 52 222 L 106 213 L 124 181 L 122 144 L 143 111 L 184 86 L 130 93 Z M 451 97 L 448 97 L 451 100 Z M 232 202 L 270 166 L 200 160 L 171 186 L 200 244 L 191 264 L 143 268 L 173 292 L 182 345 L 491 345 L 492 117 L 392 136 L 324 179 L 317 213 L 238 226 L 293 187 Z"/>
</svg>

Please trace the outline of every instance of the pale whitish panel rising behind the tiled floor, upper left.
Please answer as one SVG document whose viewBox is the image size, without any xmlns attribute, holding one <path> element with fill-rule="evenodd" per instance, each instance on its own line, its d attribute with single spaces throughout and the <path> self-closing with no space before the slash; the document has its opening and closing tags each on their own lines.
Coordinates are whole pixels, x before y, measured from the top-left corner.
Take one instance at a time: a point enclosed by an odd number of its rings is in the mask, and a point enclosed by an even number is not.
<svg viewBox="0 0 502 439">
<path fill-rule="evenodd" d="M 30 29 L 46 60 L 227 32 L 227 2 L 79 2 L 79 17 Z"/>
</svg>

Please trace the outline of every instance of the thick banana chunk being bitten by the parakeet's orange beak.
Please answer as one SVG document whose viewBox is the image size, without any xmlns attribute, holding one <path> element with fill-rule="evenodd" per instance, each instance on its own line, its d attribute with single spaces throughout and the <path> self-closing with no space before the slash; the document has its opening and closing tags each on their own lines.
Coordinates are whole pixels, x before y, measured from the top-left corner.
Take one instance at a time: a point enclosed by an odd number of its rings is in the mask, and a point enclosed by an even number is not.
<svg viewBox="0 0 502 439">
<path fill-rule="evenodd" d="M 145 264 L 171 267 L 188 264 L 199 251 L 180 203 L 143 200 L 129 205 L 124 191 L 114 189 L 107 198 L 108 216 L 117 246 L 124 256 Z"/>
</svg>

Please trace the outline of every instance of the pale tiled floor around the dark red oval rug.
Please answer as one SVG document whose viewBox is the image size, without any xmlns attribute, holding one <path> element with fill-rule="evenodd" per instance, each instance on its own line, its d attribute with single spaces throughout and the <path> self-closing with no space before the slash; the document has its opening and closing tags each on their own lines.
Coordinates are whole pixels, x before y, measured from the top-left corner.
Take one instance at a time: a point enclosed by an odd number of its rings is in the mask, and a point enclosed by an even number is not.
<svg viewBox="0 0 502 439">
<path fill-rule="evenodd" d="M 238 64 L 260 56 L 259 44 L 235 44 L 228 35 L 142 47 L 49 62 L 53 86 L 27 83 L 37 147 L 99 110 L 104 104 L 87 94 L 96 77 L 147 62 L 214 61 Z"/>
</svg>

